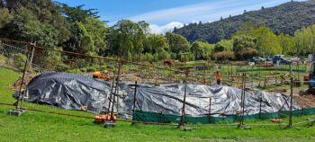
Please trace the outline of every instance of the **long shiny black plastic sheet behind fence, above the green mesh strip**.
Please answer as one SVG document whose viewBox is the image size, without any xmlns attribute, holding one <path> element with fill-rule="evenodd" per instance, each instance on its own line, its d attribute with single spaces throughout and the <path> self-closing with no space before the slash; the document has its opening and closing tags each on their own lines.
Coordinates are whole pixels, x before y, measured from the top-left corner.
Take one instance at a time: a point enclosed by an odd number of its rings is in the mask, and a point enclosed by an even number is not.
<svg viewBox="0 0 315 142">
<path fill-rule="evenodd" d="M 185 116 L 202 117 L 208 116 L 210 112 L 213 117 L 225 117 L 240 114 L 242 111 L 241 89 L 222 85 L 187 84 L 186 91 Z M 132 94 L 130 92 L 129 102 L 133 101 Z M 184 84 L 140 85 L 136 98 L 136 108 L 139 111 L 180 116 Z M 245 115 L 257 114 L 259 111 L 266 113 L 290 110 L 290 97 L 282 93 L 248 91 L 245 93 L 244 103 Z M 293 101 L 293 110 L 300 109 L 299 104 Z"/>
</svg>

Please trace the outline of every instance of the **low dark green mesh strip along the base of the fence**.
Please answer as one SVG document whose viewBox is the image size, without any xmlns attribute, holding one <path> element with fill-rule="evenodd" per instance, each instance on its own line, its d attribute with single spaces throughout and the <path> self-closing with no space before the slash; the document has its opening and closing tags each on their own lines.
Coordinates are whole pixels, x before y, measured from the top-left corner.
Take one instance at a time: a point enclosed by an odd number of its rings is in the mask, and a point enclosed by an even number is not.
<svg viewBox="0 0 315 142">
<path fill-rule="evenodd" d="M 308 108 L 302 110 L 293 111 L 293 116 L 302 116 L 302 115 L 312 115 L 315 114 L 315 108 Z M 268 120 L 275 118 L 284 118 L 290 115 L 290 111 L 279 111 L 273 113 L 261 113 L 254 115 L 246 115 L 244 116 L 244 120 Z M 136 110 L 134 112 L 134 120 L 143 121 L 143 122 L 159 122 L 159 123 L 178 123 L 180 120 L 180 116 L 171 115 L 171 114 L 162 114 L 156 112 L 148 112 L 148 111 L 139 111 Z M 233 122 L 240 120 L 241 117 L 239 115 L 232 115 L 227 117 L 185 117 L 185 123 L 218 123 L 218 122 Z"/>
</svg>

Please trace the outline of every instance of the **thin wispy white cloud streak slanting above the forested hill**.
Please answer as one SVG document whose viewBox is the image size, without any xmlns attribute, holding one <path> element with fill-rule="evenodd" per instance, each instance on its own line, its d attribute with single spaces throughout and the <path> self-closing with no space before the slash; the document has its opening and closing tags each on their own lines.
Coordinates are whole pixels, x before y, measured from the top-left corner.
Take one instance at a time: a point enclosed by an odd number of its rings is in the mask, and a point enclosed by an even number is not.
<svg viewBox="0 0 315 142">
<path fill-rule="evenodd" d="M 296 0 L 304 1 L 304 0 Z M 131 16 L 134 22 L 146 21 L 158 25 L 168 22 L 192 22 L 197 20 L 202 22 L 213 22 L 220 20 L 220 17 L 229 17 L 229 14 L 236 15 L 247 11 L 260 9 L 261 6 L 270 7 L 283 4 L 289 0 L 221 0 L 210 1 L 201 4 L 190 4 L 174 8 L 162 9 L 148 13 Z"/>
</svg>

